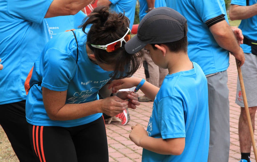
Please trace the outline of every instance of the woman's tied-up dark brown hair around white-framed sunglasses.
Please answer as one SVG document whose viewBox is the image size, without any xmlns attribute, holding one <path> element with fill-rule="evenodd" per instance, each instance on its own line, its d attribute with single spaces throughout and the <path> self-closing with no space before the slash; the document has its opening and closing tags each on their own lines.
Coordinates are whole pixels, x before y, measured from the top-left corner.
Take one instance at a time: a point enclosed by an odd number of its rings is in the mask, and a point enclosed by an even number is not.
<svg viewBox="0 0 257 162">
<path fill-rule="evenodd" d="M 88 33 L 85 32 L 90 27 Z M 122 47 L 113 52 L 107 52 L 103 49 L 94 48 L 91 44 L 105 45 L 121 39 L 128 31 L 129 19 L 124 13 L 115 13 L 109 11 L 109 7 L 96 7 L 80 26 L 83 32 L 87 34 L 87 45 L 95 54 L 95 58 L 104 64 L 113 64 L 114 71 L 110 77 L 121 79 L 132 76 L 142 63 L 142 53 L 128 54 Z"/>
</svg>

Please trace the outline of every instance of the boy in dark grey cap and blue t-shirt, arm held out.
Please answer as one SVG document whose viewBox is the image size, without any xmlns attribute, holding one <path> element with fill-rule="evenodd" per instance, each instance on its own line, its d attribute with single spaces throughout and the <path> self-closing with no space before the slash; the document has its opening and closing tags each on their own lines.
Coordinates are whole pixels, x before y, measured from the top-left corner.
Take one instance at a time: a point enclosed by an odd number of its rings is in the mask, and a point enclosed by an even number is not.
<svg viewBox="0 0 257 162">
<path fill-rule="evenodd" d="M 137 86 L 154 101 L 147 130 L 132 126 L 130 139 L 143 147 L 142 161 L 207 161 L 209 111 L 207 79 L 200 66 L 187 54 L 187 23 L 168 7 L 153 9 L 142 19 L 137 35 L 129 40 L 128 53 L 142 48 L 156 65 L 168 69 L 160 88 L 142 78 L 113 81 L 115 92 Z"/>
</svg>

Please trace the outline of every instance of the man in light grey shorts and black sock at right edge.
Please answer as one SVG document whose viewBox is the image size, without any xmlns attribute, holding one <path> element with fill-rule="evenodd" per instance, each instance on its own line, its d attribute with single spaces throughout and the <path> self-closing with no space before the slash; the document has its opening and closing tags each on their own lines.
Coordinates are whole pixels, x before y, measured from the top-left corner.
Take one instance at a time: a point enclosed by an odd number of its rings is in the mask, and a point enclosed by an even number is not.
<svg viewBox="0 0 257 162">
<path fill-rule="evenodd" d="M 232 0 L 229 16 L 231 20 L 242 20 L 239 28 L 244 35 L 244 43 L 241 44 L 241 47 L 244 50 L 245 63 L 241 67 L 241 70 L 252 127 L 254 130 L 255 112 L 257 109 L 257 86 L 255 84 L 257 80 L 257 1 Z M 250 162 L 251 138 L 239 80 L 237 82 L 236 92 L 236 104 L 241 107 L 238 122 L 241 161 Z"/>
</svg>

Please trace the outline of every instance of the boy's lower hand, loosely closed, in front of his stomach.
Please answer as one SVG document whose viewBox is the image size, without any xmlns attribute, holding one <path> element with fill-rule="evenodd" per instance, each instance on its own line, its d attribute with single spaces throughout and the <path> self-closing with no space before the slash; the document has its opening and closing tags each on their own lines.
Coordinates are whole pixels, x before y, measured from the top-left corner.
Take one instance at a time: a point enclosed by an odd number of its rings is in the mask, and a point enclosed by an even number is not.
<svg viewBox="0 0 257 162">
<path fill-rule="evenodd" d="M 133 141 L 137 146 L 140 146 L 140 140 L 144 137 L 148 137 L 147 131 L 140 124 L 136 124 L 131 127 L 131 132 L 129 133 L 129 138 Z"/>
</svg>

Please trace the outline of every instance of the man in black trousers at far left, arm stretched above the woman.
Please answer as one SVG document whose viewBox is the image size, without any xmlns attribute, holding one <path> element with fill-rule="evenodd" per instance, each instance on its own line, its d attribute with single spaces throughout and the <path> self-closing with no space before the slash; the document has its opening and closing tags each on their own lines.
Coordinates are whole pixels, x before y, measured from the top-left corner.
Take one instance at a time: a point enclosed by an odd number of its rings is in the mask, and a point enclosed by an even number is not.
<svg viewBox="0 0 257 162">
<path fill-rule="evenodd" d="M 0 71 L 0 124 L 20 161 L 36 161 L 25 119 L 24 82 L 51 38 L 44 18 L 74 15 L 90 2 L 0 0 L 0 57 L 5 66 Z"/>
</svg>

